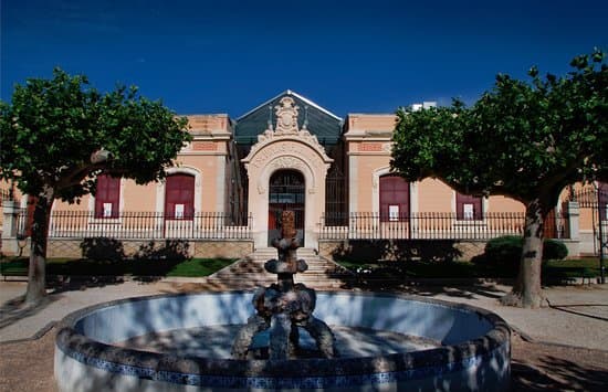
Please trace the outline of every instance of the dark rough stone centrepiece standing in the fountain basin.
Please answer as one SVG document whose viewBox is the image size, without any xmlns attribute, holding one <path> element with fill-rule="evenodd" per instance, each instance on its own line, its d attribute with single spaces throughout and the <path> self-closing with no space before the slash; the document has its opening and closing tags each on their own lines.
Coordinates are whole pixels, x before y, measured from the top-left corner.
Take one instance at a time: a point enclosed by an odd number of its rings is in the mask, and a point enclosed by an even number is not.
<svg viewBox="0 0 608 392">
<path fill-rule="evenodd" d="M 234 359 L 247 359 L 254 336 L 264 330 L 270 332 L 270 359 L 295 359 L 300 351 L 298 327 L 304 328 L 315 340 L 322 357 L 336 356 L 332 330 L 313 316 L 315 290 L 302 283 L 294 284 L 293 280 L 296 273 L 308 269 L 304 259 L 296 258 L 300 243 L 294 221 L 293 211 L 283 211 L 281 239 L 272 242 L 279 252 L 279 259 L 270 259 L 264 264 L 269 273 L 277 275 L 279 282 L 254 294 L 253 307 L 256 314 L 237 333 L 232 346 Z"/>
</svg>

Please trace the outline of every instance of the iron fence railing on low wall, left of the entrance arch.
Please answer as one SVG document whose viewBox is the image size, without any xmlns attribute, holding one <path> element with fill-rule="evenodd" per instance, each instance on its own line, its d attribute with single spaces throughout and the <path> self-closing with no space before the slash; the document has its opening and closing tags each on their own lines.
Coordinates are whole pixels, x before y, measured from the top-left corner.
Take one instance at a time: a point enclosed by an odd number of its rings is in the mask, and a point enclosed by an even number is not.
<svg viewBox="0 0 608 392">
<path fill-rule="evenodd" d="M 31 219 L 30 219 L 31 220 Z M 247 222 L 247 225 L 238 224 Z M 25 211 L 18 216 L 19 232 L 28 235 Z M 250 240 L 251 216 L 235 219 L 221 212 L 199 212 L 175 219 L 159 212 L 122 212 L 98 218 L 88 211 L 53 211 L 49 237 L 112 237 L 141 240 Z"/>
</svg>

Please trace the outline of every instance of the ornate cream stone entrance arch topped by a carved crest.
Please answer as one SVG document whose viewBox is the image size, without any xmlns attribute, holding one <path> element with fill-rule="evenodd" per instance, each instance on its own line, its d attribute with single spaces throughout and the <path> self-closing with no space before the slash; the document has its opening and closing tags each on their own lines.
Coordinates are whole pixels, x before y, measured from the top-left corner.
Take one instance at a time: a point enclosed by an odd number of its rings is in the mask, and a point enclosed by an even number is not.
<svg viewBox="0 0 608 392">
<path fill-rule="evenodd" d="M 255 248 L 269 246 L 269 239 L 277 236 L 275 214 L 279 209 L 285 208 L 281 205 L 283 197 L 285 200 L 287 197 L 296 198 L 289 203 L 290 208 L 301 209 L 302 220 L 297 227 L 302 233 L 298 233 L 301 245 L 318 246 L 318 227 L 325 206 L 325 178 L 334 160 L 327 156 L 316 136 L 305 126 L 298 128 L 297 108 L 292 98 L 281 99 L 280 105 L 275 106 L 276 128 L 269 124 L 269 129 L 258 135 L 258 142 L 242 159 L 249 178 L 248 206 L 253 216 L 251 229 Z M 295 182 L 297 190 L 283 192 L 280 189 L 295 187 Z M 273 184 L 277 188 L 271 190 Z"/>
</svg>

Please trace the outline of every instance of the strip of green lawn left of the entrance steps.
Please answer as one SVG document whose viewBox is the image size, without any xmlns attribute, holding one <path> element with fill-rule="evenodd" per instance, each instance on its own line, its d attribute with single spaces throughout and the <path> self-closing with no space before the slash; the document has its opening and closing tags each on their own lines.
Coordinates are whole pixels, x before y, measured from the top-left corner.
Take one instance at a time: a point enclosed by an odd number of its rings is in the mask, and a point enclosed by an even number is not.
<svg viewBox="0 0 608 392">
<path fill-rule="evenodd" d="M 209 276 L 237 258 L 191 258 L 186 261 L 168 259 L 122 259 L 93 261 L 74 258 L 50 258 L 46 262 L 48 275 L 84 275 L 84 276 Z M 28 275 L 28 259 L 4 258 L 1 261 L 3 275 Z"/>
</svg>

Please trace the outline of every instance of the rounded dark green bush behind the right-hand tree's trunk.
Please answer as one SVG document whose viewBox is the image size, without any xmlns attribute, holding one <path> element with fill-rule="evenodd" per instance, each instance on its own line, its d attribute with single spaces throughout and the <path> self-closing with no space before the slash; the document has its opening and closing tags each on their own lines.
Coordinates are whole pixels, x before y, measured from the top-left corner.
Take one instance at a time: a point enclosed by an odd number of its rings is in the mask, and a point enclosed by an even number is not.
<svg viewBox="0 0 608 392">
<path fill-rule="evenodd" d="M 483 257 L 475 257 L 472 262 L 489 262 L 497 265 L 517 267 L 522 257 L 524 239 L 515 235 L 505 235 L 488 241 Z M 568 256 L 568 248 L 556 240 L 543 242 L 543 259 L 564 259 Z"/>
</svg>

